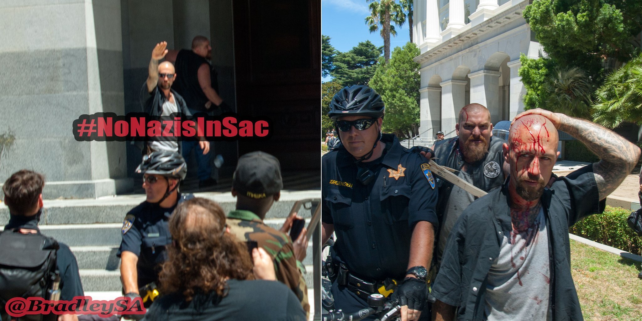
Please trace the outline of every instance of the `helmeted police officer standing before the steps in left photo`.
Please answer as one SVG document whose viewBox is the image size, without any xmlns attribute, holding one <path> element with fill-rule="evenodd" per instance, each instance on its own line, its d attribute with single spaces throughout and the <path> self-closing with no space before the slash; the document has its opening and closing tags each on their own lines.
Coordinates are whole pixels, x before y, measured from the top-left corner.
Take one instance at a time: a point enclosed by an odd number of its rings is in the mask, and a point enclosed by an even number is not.
<svg viewBox="0 0 642 321">
<path fill-rule="evenodd" d="M 132 299 L 140 297 L 139 288 L 158 281 L 160 264 L 167 258 L 165 246 L 171 243 L 169 216 L 187 199 L 178 193 L 178 184 L 187 173 L 185 160 L 178 153 L 146 155 L 136 172 L 143 173 L 147 199 L 125 216 L 123 241 L 116 254 L 121 257 L 123 291 Z M 143 315 L 129 317 L 139 319 Z"/>
</svg>

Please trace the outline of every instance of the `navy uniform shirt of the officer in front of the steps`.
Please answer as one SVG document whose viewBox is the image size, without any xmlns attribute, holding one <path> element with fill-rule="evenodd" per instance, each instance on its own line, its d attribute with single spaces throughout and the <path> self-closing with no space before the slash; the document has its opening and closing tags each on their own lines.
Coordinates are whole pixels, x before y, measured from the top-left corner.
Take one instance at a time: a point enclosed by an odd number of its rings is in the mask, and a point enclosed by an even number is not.
<svg viewBox="0 0 642 321">
<path fill-rule="evenodd" d="M 179 194 L 176 205 L 186 199 L 186 196 Z M 139 287 L 158 280 L 160 264 L 167 259 L 165 246 L 171 243 L 169 217 L 176 205 L 163 208 L 158 204 L 143 202 L 125 216 L 123 240 L 116 256 L 121 257 L 123 251 L 138 256 L 136 268 Z"/>
</svg>

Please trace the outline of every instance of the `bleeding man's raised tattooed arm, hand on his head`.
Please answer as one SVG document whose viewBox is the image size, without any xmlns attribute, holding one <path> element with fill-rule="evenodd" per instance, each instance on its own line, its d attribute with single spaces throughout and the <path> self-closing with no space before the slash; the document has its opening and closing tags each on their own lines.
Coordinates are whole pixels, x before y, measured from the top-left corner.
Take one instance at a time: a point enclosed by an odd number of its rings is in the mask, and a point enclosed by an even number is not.
<svg viewBox="0 0 642 321">
<path fill-rule="evenodd" d="M 527 114 L 539 114 L 550 119 L 555 128 L 575 137 L 600 157 L 601 160 L 593 164 L 593 174 L 600 192 L 600 200 L 620 186 L 638 162 L 640 157 L 638 146 L 607 128 L 584 119 L 539 108 L 527 110 L 517 115 L 515 119 Z"/>
</svg>

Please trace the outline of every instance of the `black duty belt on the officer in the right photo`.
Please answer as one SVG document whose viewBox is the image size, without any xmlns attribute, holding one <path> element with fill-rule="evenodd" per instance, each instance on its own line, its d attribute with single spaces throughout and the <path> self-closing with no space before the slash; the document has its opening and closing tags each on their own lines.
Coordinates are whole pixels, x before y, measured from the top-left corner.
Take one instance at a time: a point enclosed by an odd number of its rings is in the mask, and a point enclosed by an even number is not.
<svg viewBox="0 0 642 321">
<path fill-rule="evenodd" d="M 390 277 L 383 281 L 366 280 L 351 273 L 343 263 L 336 267 L 336 282 L 365 301 L 373 293 L 388 297 L 397 288 L 397 281 Z"/>
</svg>

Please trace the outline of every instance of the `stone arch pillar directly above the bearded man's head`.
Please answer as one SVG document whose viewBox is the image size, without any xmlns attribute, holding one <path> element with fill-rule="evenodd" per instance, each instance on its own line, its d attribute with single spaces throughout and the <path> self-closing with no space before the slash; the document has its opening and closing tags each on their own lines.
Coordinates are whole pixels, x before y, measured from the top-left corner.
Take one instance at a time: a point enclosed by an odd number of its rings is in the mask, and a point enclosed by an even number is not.
<svg viewBox="0 0 642 321">
<path fill-rule="evenodd" d="M 501 120 L 499 110 L 499 71 L 480 70 L 468 74 L 471 78 L 471 103 L 480 103 L 488 108 L 490 121 Z"/>
</svg>

